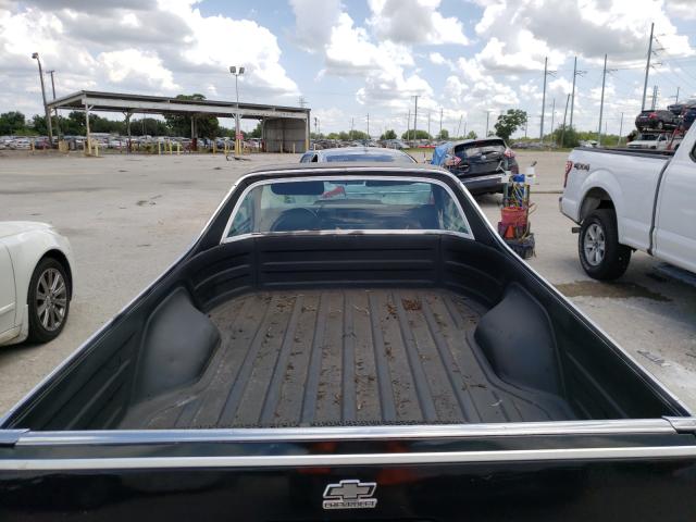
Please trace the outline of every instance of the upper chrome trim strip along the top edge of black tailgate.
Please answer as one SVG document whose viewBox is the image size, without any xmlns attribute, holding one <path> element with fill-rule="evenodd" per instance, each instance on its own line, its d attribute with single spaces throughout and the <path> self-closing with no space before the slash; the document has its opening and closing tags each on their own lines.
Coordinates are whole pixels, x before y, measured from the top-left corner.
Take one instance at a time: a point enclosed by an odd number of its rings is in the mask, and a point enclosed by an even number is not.
<svg viewBox="0 0 696 522">
<path fill-rule="evenodd" d="M 231 430 L 121 430 L 85 432 L 29 432 L 17 446 L 259 443 L 303 440 L 377 440 L 423 438 L 477 438 L 526 435 L 674 434 L 666 419 L 617 421 L 518 422 L 510 424 L 444 424 L 400 426 L 266 427 Z"/>
</svg>

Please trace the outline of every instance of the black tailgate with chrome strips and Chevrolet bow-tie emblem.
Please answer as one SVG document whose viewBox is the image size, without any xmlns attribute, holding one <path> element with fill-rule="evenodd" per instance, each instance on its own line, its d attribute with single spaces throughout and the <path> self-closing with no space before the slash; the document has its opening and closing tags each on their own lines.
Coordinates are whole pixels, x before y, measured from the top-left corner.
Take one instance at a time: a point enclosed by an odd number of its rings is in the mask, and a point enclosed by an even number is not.
<svg viewBox="0 0 696 522">
<path fill-rule="evenodd" d="M 20 433 L 0 519 L 694 520 L 695 443 L 667 420 Z"/>
</svg>

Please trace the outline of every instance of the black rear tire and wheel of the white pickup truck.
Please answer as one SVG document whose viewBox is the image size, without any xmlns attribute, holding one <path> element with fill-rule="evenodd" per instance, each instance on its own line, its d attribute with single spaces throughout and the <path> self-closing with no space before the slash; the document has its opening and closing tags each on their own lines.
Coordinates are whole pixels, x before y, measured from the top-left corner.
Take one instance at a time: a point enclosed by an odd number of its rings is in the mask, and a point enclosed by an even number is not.
<svg viewBox="0 0 696 522">
<path fill-rule="evenodd" d="M 621 277 L 631 261 L 631 249 L 619 243 L 617 215 L 611 209 L 597 209 L 582 223 L 577 253 L 583 270 L 595 279 Z"/>
</svg>

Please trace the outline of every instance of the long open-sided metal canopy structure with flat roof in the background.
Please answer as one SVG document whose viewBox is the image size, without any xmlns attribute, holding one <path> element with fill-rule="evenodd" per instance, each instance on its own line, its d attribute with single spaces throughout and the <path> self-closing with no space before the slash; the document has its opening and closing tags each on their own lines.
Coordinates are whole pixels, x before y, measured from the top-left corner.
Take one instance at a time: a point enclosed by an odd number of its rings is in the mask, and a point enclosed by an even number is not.
<svg viewBox="0 0 696 522">
<path fill-rule="evenodd" d="M 269 152 L 303 152 L 309 147 L 310 109 L 300 107 L 236 103 L 215 100 L 181 100 L 163 96 L 144 96 L 122 92 L 80 90 L 47 103 L 49 109 L 85 111 L 89 138 L 89 111 L 122 112 L 126 122 L 135 113 L 178 114 L 191 116 L 191 129 L 197 115 L 234 117 L 263 122 L 266 150 Z M 268 130 L 268 132 L 266 132 Z M 191 133 L 192 134 L 192 133 Z M 211 136 L 213 137 L 213 136 Z"/>
</svg>

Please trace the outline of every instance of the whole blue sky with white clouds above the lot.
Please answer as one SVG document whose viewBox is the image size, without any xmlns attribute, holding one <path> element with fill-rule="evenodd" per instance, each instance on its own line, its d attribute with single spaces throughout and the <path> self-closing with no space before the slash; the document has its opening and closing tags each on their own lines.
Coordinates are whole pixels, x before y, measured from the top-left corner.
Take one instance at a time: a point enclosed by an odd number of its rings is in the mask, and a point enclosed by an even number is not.
<svg viewBox="0 0 696 522">
<path fill-rule="evenodd" d="M 36 62 L 57 96 L 80 90 L 297 105 L 322 132 L 401 133 L 419 98 L 419 128 L 483 134 L 486 112 L 529 112 L 538 136 L 544 59 L 546 128 L 563 117 L 577 57 L 574 121 L 618 132 L 641 107 L 650 23 L 658 104 L 696 95 L 696 0 L 0 0 L 0 112 L 41 111 Z M 493 123 L 492 123 L 493 124 Z M 248 124 L 253 126 L 252 124 Z"/>
</svg>

